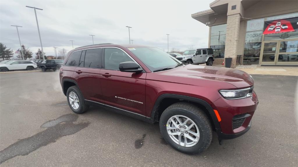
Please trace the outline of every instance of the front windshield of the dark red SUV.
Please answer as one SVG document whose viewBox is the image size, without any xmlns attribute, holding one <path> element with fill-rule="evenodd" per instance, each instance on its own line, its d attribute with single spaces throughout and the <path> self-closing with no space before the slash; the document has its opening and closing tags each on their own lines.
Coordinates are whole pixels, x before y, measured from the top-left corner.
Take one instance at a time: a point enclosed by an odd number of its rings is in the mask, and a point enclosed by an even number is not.
<svg viewBox="0 0 298 167">
<path fill-rule="evenodd" d="M 180 64 L 173 56 L 165 53 L 159 48 L 138 47 L 128 48 L 136 57 L 138 57 L 150 71 L 159 70 L 163 68 L 174 68 Z"/>
</svg>

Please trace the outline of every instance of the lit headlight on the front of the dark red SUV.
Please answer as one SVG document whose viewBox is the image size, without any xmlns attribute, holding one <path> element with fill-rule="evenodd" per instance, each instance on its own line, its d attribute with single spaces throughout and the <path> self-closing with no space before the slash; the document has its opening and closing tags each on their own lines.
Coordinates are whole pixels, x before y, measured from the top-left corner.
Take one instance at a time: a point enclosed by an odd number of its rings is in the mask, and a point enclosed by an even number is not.
<svg viewBox="0 0 298 167">
<path fill-rule="evenodd" d="M 252 95 L 253 86 L 238 90 L 220 90 L 219 93 L 228 100 L 244 99 Z"/>
</svg>

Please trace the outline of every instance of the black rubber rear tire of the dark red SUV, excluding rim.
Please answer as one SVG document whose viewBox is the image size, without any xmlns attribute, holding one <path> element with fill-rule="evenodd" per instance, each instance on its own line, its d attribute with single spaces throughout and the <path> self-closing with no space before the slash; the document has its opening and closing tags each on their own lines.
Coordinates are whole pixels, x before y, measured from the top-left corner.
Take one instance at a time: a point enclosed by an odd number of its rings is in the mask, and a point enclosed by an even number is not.
<svg viewBox="0 0 298 167">
<path fill-rule="evenodd" d="M 71 106 L 70 102 L 69 102 L 69 93 L 70 92 L 75 92 L 75 94 L 77 95 L 78 99 L 79 99 L 79 108 L 75 109 Z M 76 114 L 82 114 L 84 112 L 86 112 L 89 108 L 89 105 L 84 103 L 84 97 L 82 92 L 80 91 L 80 89 L 77 86 L 71 86 L 67 89 L 67 93 L 66 93 L 66 97 L 67 97 L 67 102 L 69 107 L 72 109 L 72 111 Z"/>
</svg>

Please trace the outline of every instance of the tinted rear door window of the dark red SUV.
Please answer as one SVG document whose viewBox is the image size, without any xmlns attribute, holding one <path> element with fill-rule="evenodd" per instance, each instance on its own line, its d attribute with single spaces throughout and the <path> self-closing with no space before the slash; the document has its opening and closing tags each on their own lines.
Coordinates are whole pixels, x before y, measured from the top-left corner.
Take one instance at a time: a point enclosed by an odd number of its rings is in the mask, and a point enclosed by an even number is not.
<svg viewBox="0 0 298 167">
<path fill-rule="evenodd" d="M 84 67 L 100 68 L 101 51 L 101 48 L 87 50 Z"/>
</svg>

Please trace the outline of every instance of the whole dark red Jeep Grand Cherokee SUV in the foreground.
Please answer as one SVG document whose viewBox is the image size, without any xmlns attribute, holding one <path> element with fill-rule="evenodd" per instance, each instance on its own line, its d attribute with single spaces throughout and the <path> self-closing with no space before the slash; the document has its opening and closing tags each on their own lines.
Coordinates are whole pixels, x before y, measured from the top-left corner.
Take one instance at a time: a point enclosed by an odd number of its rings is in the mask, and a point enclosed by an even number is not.
<svg viewBox="0 0 298 167">
<path fill-rule="evenodd" d="M 60 69 L 60 82 L 75 113 L 98 105 L 159 122 L 164 140 L 188 154 L 207 149 L 212 130 L 220 141 L 246 133 L 258 104 L 249 74 L 182 64 L 140 45 L 76 48 Z"/>
</svg>

